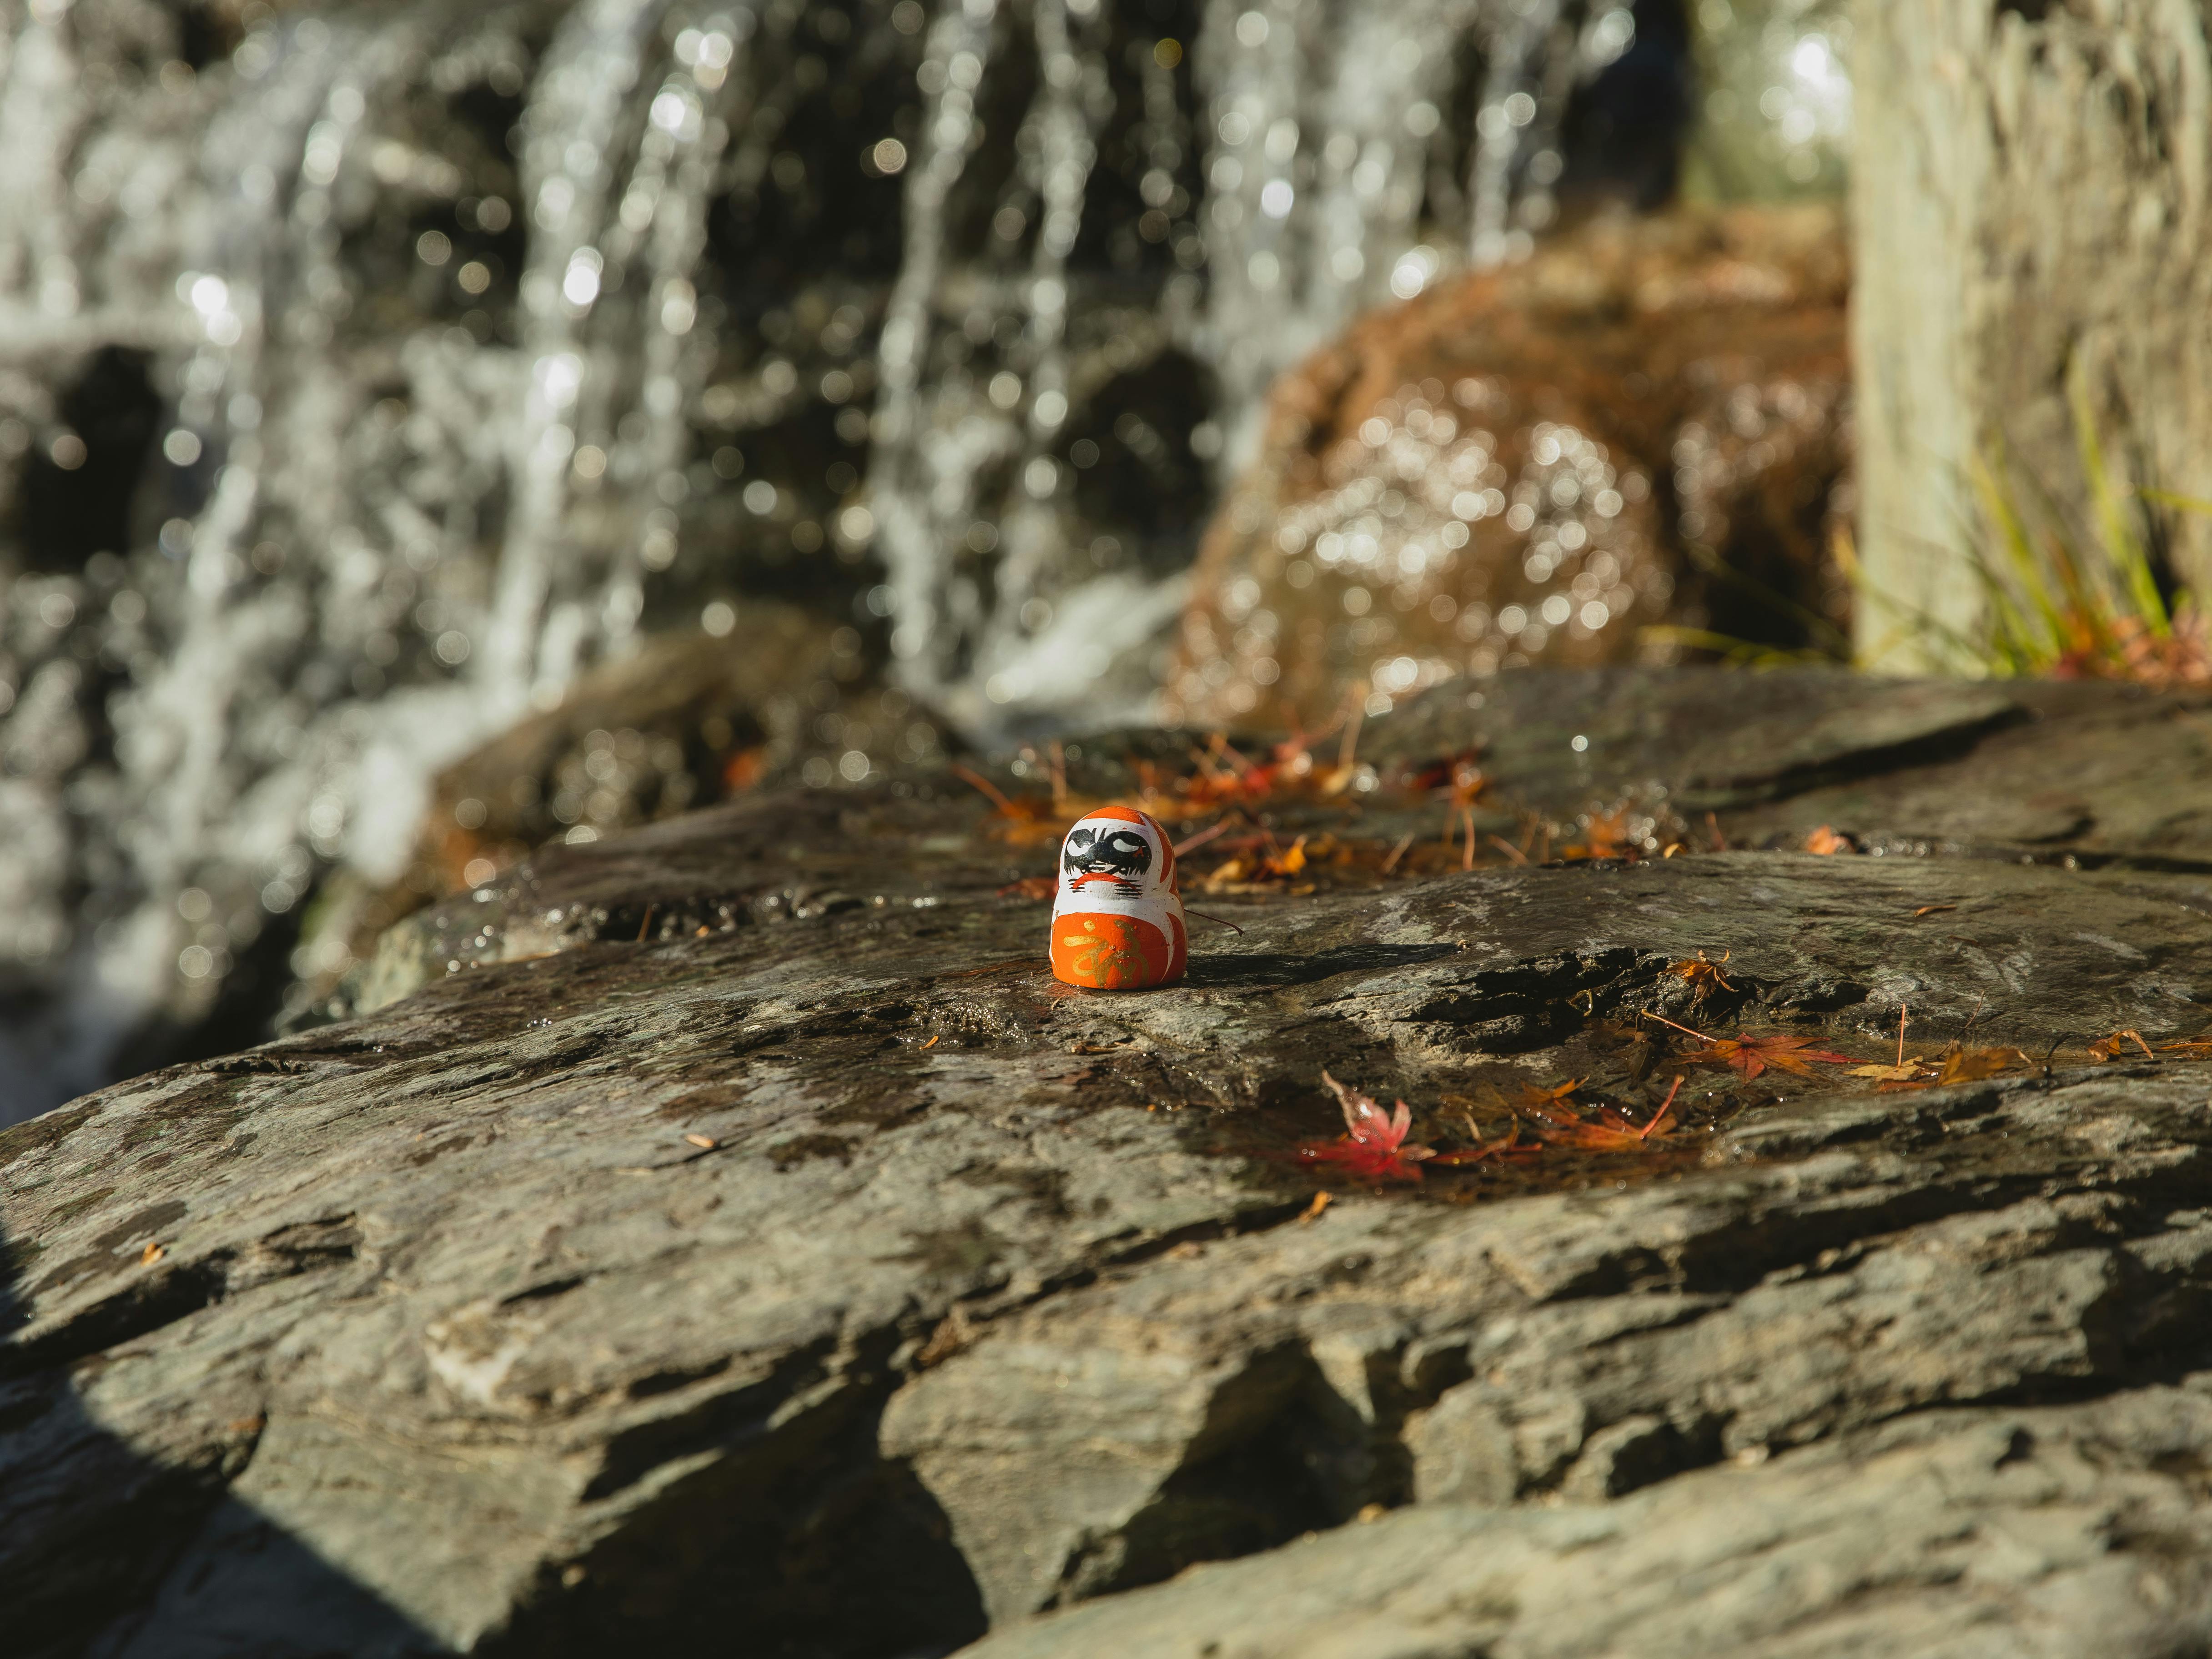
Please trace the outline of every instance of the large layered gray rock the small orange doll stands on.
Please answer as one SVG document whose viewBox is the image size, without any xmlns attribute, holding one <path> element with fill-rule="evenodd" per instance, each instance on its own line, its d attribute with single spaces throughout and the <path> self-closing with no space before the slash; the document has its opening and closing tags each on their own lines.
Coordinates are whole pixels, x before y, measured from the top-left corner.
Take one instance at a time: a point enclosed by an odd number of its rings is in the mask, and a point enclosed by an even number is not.
<svg viewBox="0 0 2212 1659">
<path fill-rule="evenodd" d="M 2166 1044 L 2212 1000 L 2208 719 L 1440 686 L 1188 854 L 1243 931 L 1146 995 L 1046 973 L 1042 754 L 980 772 L 1006 807 L 907 772 L 542 852 L 396 929 L 358 1018 L 0 1135 L 18 1628 L 2201 1646 L 2212 1071 Z M 1469 750 L 1471 823 L 1427 792 Z M 1199 794 L 1181 739 L 1060 761 L 1068 801 Z M 1223 876 L 1261 818 L 1336 852 Z M 1661 1024 L 1871 1064 L 1905 1011 L 1909 1057 L 1984 1064 L 1885 1093 Z M 1296 1155 L 1323 1068 L 1438 1148 L 1686 1082 L 1619 1150 L 1371 1183 Z"/>
</svg>

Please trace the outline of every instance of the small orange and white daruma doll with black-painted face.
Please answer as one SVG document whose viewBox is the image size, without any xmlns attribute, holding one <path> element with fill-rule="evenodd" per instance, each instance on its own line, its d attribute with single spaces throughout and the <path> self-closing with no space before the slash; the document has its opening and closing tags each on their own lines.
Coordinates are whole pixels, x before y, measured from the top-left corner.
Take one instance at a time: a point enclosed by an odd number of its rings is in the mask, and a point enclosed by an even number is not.
<svg viewBox="0 0 2212 1659">
<path fill-rule="evenodd" d="M 1060 843 L 1053 978 L 1093 991 L 1146 991 L 1183 978 L 1175 847 L 1155 818 L 1099 807 Z"/>
</svg>

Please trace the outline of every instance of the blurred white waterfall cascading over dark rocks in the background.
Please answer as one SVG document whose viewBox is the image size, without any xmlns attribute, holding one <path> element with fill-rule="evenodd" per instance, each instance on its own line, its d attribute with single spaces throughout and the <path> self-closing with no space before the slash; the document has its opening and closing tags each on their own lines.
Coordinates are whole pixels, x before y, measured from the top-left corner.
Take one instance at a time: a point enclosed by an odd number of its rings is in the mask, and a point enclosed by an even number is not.
<svg viewBox="0 0 2212 1659">
<path fill-rule="evenodd" d="M 754 595 L 1128 717 L 1287 363 L 1524 252 L 1577 0 L 0 7 L 0 1121 Z M 863 757 L 898 761 L 896 750 Z"/>
</svg>

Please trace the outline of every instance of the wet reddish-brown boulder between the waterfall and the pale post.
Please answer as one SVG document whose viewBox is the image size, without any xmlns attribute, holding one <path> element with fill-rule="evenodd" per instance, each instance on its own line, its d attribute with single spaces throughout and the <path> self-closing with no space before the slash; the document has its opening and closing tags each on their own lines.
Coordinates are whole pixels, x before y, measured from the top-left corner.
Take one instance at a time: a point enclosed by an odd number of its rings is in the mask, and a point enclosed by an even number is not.
<svg viewBox="0 0 2212 1659">
<path fill-rule="evenodd" d="M 1849 259 L 1827 206 L 1599 217 L 1276 383 L 1197 566 L 1170 721 L 1453 672 L 1840 644 Z M 1692 635 L 1694 637 L 1694 635 Z"/>
</svg>

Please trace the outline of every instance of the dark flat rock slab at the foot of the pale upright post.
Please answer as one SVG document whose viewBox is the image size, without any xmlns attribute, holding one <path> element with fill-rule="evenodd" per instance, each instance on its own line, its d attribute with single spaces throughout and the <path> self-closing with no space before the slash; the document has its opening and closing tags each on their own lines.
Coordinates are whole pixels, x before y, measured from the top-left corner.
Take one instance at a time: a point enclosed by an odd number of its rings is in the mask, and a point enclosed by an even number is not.
<svg viewBox="0 0 2212 1659">
<path fill-rule="evenodd" d="M 2212 695 L 2099 681 L 1610 668 L 1438 686 L 1391 754 L 1475 743 L 1495 803 L 1670 803 L 1730 834 L 2062 860 L 2212 860 Z M 1575 748 L 1582 739 L 1582 748 Z"/>
</svg>

